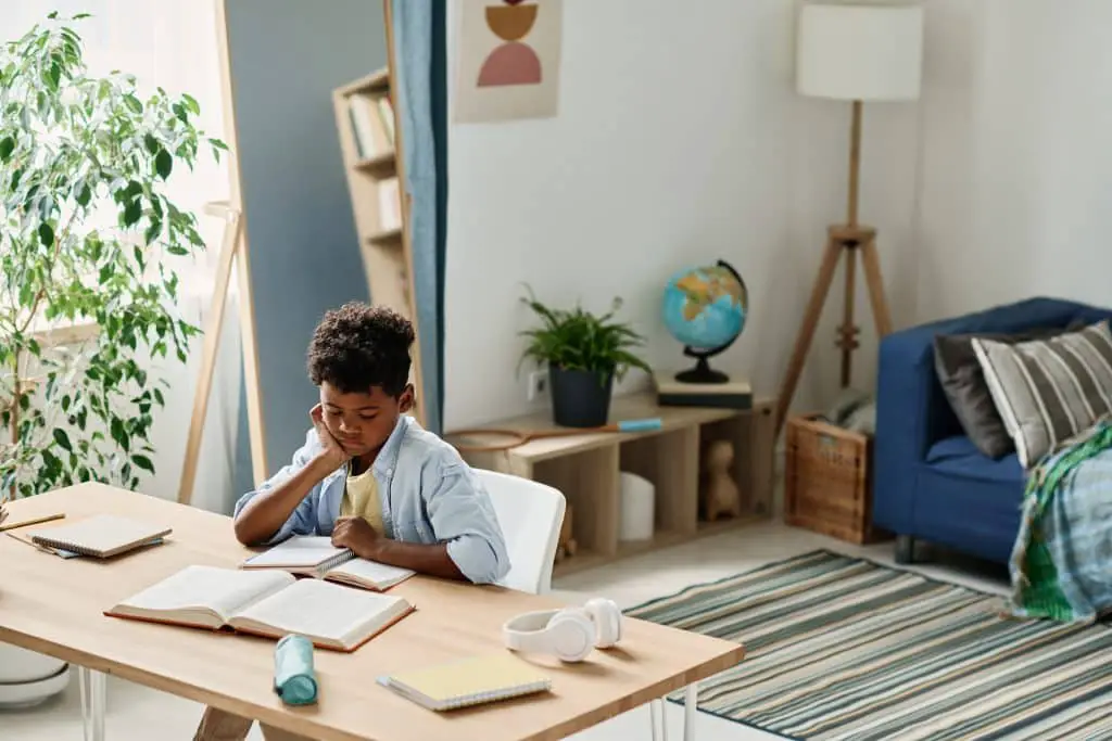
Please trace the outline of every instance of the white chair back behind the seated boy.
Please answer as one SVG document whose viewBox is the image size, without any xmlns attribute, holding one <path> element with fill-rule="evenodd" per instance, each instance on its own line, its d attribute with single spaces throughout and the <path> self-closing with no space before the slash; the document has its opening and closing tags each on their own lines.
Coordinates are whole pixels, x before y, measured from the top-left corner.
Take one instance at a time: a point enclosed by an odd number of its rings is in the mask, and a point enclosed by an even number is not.
<svg viewBox="0 0 1112 741">
<path fill-rule="evenodd" d="M 552 588 L 556 542 L 564 523 L 564 494 L 538 481 L 475 469 L 490 495 L 506 537 L 509 573 L 503 587 L 530 594 Z"/>
</svg>

